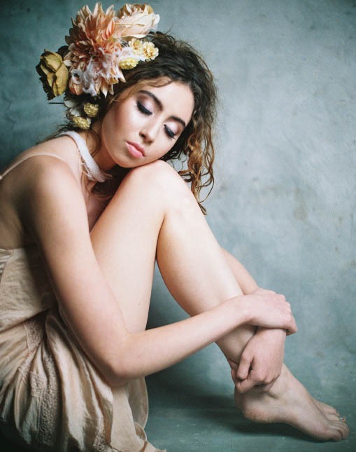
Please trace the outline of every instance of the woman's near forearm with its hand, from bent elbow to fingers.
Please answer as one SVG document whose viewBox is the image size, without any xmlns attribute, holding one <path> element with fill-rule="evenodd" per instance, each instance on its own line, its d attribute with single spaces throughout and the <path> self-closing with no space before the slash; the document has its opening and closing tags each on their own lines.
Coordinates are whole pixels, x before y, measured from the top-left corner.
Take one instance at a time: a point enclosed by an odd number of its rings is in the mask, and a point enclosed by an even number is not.
<svg viewBox="0 0 356 452">
<path fill-rule="evenodd" d="M 125 334 L 118 358 L 111 359 L 115 367 L 109 369 L 110 380 L 122 383 L 162 370 L 246 323 L 297 330 L 284 296 L 257 289 L 253 294 L 236 296 L 181 322 Z"/>
</svg>

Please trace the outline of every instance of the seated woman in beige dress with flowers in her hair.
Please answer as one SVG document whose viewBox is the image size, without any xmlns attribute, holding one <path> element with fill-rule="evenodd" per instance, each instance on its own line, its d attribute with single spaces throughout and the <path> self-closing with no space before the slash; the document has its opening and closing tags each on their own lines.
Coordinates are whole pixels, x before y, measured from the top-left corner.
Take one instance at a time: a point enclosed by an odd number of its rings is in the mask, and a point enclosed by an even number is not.
<svg viewBox="0 0 356 452">
<path fill-rule="evenodd" d="M 245 416 L 344 439 L 342 416 L 283 365 L 297 330 L 285 297 L 206 224 L 215 89 L 190 46 L 148 33 L 157 21 L 148 6 L 85 7 L 68 46 L 41 57 L 69 123 L 1 176 L 2 430 L 41 450 L 156 450 L 143 377 L 216 341 Z M 178 174 L 166 160 L 182 156 Z M 145 331 L 156 260 L 191 317 Z"/>
</svg>

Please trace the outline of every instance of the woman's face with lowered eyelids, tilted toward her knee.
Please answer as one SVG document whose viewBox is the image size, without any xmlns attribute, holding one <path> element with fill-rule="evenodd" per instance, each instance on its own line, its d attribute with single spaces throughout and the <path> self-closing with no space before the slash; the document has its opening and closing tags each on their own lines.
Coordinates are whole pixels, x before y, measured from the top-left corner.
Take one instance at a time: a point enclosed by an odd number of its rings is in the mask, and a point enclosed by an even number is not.
<svg viewBox="0 0 356 452">
<path fill-rule="evenodd" d="M 164 156 L 190 122 L 194 98 L 189 86 L 171 82 L 143 85 L 114 102 L 101 125 L 101 149 L 95 156 L 103 170 L 137 167 Z"/>
</svg>

